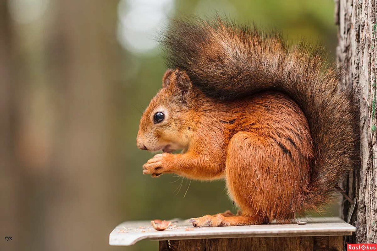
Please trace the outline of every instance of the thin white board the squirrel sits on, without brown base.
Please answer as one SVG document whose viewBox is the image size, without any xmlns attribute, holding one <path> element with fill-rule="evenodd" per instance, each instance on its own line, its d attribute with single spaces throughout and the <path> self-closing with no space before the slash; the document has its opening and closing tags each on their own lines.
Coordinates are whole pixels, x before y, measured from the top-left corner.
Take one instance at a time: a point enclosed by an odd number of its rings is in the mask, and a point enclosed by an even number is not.
<svg viewBox="0 0 377 251">
<path fill-rule="evenodd" d="M 172 225 L 164 231 L 157 231 L 150 221 L 128 221 L 118 225 L 109 238 L 110 245 L 129 246 L 139 240 L 181 240 L 235 237 L 274 236 L 333 236 L 351 235 L 355 227 L 337 217 L 307 218 L 305 225 L 269 224 L 236 227 L 193 228 L 187 220 L 171 220 Z"/>
</svg>

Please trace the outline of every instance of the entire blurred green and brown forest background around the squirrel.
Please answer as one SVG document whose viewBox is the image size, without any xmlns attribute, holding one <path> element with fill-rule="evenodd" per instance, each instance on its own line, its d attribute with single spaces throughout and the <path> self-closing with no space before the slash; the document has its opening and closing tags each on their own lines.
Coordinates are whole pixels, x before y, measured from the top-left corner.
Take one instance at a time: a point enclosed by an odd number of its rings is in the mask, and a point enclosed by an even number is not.
<svg viewBox="0 0 377 251">
<path fill-rule="evenodd" d="M 136 148 L 166 70 L 156 32 L 168 17 L 214 11 L 334 56 L 332 0 L 0 3 L 0 250 L 157 250 L 149 240 L 109 246 L 108 235 L 122 221 L 236 210 L 223 181 L 144 176 L 153 154 Z"/>
</svg>

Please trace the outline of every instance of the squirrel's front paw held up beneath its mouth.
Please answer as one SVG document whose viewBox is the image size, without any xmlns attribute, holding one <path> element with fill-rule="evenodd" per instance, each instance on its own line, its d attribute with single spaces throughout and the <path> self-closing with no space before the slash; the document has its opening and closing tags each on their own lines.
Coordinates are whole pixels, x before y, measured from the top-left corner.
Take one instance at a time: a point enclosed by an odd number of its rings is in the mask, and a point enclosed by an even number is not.
<svg viewBox="0 0 377 251">
<path fill-rule="evenodd" d="M 171 173 L 168 169 L 168 161 L 172 154 L 156 154 L 143 165 L 143 174 L 151 174 L 153 178 L 163 173 Z"/>
</svg>

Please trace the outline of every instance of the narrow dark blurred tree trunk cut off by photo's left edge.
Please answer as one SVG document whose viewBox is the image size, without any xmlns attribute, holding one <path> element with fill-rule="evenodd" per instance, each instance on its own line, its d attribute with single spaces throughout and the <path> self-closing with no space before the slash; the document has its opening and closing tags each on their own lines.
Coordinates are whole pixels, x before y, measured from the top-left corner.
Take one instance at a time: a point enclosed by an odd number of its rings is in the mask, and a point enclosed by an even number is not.
<svg viewBox="0 0 377 251">
<path fill-rule="evenodd" d="M 0 249 L 5 237 L 20 236 L 17 224 L 17 184 L 20 178 L 14 163 L 14 153 L 11 151 L 14 131 L 14 105 L 11 100 L 11 27 L 6 1 L 0 2 Z M 15 210 L 16 209 L 16 210 Z M 8 250 L 19 250 L 20 243 L 7 241 Z"/>
</svg>

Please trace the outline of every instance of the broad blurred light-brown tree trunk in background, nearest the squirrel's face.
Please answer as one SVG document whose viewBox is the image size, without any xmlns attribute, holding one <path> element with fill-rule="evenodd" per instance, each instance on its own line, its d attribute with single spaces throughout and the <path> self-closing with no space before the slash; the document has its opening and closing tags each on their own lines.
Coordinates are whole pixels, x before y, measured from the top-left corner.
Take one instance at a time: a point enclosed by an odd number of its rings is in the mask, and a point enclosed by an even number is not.
<svg viewBox="0 0 377 251">
<path fill-rule="evenodd" d="M 64 110 L 49 173 L 47 250 L 111 249 L 107 236 L 116 220 L 109 6 L 98 0 L 58 2 L 57 46 L 63 60 L 57 85 L 63 90 Z"/>
</svg>

